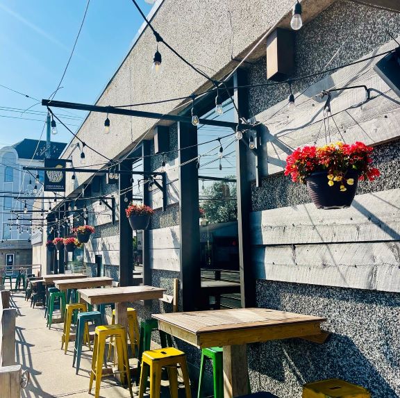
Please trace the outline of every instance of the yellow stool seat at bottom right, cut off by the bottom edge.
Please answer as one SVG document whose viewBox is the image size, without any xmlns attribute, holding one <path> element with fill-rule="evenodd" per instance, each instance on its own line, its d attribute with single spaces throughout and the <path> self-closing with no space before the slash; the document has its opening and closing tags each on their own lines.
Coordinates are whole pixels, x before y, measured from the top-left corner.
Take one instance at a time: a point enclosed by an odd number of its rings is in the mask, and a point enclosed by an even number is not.
<svg viewBox="0 0 400 398">
<path fill-rule="evenodd" d="M 340 379 L 315 381 L 303 385 L 303 398 L 370 398 L 369 391 L 360 385 Z"/>
</svg>

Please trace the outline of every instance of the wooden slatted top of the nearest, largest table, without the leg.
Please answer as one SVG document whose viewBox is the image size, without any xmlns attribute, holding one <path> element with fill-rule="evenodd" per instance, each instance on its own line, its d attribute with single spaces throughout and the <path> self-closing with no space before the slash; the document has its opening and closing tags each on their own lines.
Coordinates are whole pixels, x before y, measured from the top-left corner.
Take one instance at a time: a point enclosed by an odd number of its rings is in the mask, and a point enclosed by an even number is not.
<svg viewBox="0 0 400 398">
<path fill-rule="evenodd" d="M 321 334 L 322 317 L 267 308 L 153 314 L 160 330 L 200 348 Z"/>
</svg>

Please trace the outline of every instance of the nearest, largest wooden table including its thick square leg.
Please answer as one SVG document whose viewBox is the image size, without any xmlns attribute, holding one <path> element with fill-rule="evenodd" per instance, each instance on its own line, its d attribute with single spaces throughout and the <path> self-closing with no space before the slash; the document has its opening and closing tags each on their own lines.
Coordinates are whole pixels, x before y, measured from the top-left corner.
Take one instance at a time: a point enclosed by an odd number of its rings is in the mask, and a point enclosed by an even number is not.
<svg viewBox="0 0 400 398">
<path fill-rule="evenodd" d="M 224 396 L 247 395 L 247 343 L 324 335 L 325 318 L 265 308 L 153 314 L 160 330 L 199 347 L 224 348 Z M 315 340 L 310 337 L 308 340 Z"/>
</svg>

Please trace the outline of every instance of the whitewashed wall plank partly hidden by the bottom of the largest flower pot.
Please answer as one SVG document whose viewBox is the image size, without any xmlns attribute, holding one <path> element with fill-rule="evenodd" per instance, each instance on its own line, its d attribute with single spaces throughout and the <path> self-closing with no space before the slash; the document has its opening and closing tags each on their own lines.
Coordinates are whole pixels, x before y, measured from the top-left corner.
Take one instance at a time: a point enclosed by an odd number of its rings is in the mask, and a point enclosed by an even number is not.
<svg viewBox="0 0 400 398">
<path fill-rule="evenodd" d="M 350 208 L 314 204 L 251 213 L 251 242 L 301 244 L 400 239 L 400 189 L 357 195 Z"/>
</svg>

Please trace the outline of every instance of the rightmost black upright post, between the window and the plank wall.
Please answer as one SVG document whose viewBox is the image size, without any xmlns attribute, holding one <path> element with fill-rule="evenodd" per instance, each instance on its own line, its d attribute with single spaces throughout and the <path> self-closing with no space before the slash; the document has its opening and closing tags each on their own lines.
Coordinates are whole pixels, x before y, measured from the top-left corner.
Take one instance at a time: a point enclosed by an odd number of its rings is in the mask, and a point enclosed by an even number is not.
<svg viewBox="0 0 400 398">
<path fill-rule="evenodd" d="M 235 87 L 247 85 L 247 76 L 244 70 L 239 69 L 234 76 Z M 249 92 L 245 88 L 237 88 L 234 92 L 234 101 L 240 115 L 249 117 Z M 236 115 L 236 117 L 238 117 Z M 238 238 L 239 238 L 239 267 L 240 267 L 240 295 L 242 307 L 252 307 L 256 304 L 256 287 L 251 264 L 250 220 L 251 185 L 247 177 L 248 146 L 244 140 L 236 142 L 236 189 L 238 197 Z M 253 156 L 253 155 L 251 155 Z"/>
</svg>

